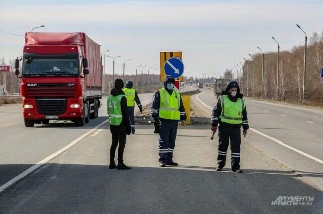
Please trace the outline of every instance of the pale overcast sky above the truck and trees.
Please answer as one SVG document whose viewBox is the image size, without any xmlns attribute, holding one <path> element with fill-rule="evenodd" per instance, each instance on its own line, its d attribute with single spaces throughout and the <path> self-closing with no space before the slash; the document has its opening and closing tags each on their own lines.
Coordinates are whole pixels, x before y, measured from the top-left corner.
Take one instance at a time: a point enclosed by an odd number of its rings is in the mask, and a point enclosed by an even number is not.
<svg viewBox="0 0 323 214">
<path fill-rule="evenodd" d="M 45 3 L 46 2 L 46 3 Z M 248 53 L 282 50 L 323 31 L 323 1 L 5 1 L 0 0 L 0 29 L 24 35 L 38 32 L 85 32 L 110 50 L 116 72 L 144 65 L 160 68 L 159 52 L 182 51 L 186 72 L 223 73 Z M 24 37 L 0 32 L 0 56 L 21 55 Z M 146 72 L 147 70 L 144 70 Z M 112 59 L 106 58 L 106 73 Z"/>
</svg>

